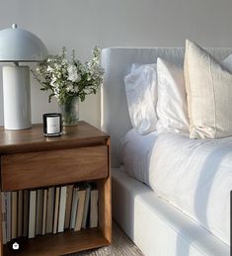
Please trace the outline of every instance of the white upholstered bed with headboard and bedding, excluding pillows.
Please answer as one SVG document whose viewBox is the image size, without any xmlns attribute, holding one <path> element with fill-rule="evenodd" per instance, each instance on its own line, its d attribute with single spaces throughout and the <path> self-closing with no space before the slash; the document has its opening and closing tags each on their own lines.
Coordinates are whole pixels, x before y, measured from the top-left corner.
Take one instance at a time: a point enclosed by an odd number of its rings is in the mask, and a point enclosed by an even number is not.
<svg viewBox="0 0 232 256">
<path fill-rule="evenodd" d="M 221 60 L 232 49 L 209 48 L 208 51 Z M 111 47 L 102 51 L 106 74 L 101 122 L 102 128 L 112 137 L 113 217 L 144 255 L 229 256 L 227 191 L 231 180 L 226 188 L 219 188 L 223 191 L 219 194 L 218 184 L 232 169 L 232 138 L 190 141 L 185 134 L 154 131 L 142 136 L 131 128 L 123 77 L 129 73 L 132 63 L 154 63 L 157 57 L 182 65 L 184 48 Z M 143 147 L 144 139 L 148 141 L 148 148 Z M 175 150 L 177 144 L 180 150 Z M 182 166 L 177 161 L 180 158 Z M 196 170 L 194 175 L 185 171 L 192 165 Z M 177 177 L 169 176 L 172 167 L 176 168 Z M 220 168 L 222 176 L 217 175 Z M 134 178 L 134 172 L 139 179 Z M 185 186 L 175 187 L 183 177 Z M 169 186 L 170 183 L 174 186 Z M 193 189 L 189 189 L 191 186 Z M 154 188 L 158 188 L 158 193 Z M 188 189 L 192 195 L 185 198 Z M 173 194 L 173 198 L 167 200 L 166 193 Z M 223 193 L 228 194 L 223 201 L 224 208 L 217 208 L 214 199 L 219 202 Z M 207 219 L 208 210 L 218 212 L 217 216 L 221 214 L 223 221 L 216 217 Z"/>
</svg>

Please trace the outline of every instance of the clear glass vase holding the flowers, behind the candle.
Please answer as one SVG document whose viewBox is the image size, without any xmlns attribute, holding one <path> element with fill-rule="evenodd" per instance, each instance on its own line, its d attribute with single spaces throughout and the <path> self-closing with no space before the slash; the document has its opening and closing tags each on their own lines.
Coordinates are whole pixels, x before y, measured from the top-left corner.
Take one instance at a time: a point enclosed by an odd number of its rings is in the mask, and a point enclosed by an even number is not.
<svg viewBox="0 0 232 256">
<path fill-rule="evenodd" d="M 76 126 L 79 120 L 79 98 L 75 97 L 64 104 L 59 104 L 59 111 L 62 114 L 63 127 Z"/>
</svg>

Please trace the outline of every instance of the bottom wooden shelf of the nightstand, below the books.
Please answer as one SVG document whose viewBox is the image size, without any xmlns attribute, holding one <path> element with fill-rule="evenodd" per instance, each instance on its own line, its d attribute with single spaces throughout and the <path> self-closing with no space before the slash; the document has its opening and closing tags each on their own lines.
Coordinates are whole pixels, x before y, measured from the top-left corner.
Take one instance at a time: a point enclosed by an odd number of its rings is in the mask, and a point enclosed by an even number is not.
<svg viewBox="0 0 232 256">
<path fill-rule="evenodd" d="M 91 228 L 77 232 L 67 230 L 63 233 L 47 234 L 33 239 L 25 238 L 22 242 L 23 251 L 17 253 L 17 255 L 24 256 L 64 255 L 110 244 L 100 228 Z M 3 250 L 4 255 L 16 255 L 9 251 L 7 245 L 4 245 Z"/>
</svg>

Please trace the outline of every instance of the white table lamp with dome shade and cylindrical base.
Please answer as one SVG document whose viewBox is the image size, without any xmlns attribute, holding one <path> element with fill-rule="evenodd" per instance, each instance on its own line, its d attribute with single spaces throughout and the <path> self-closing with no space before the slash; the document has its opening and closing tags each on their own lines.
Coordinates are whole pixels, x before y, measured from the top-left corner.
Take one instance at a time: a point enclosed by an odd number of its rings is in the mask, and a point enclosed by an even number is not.
<svg viewBox="0 0 232 256">
<path fill-rule="evenodd" d="M 0 62 L 14 63 L 2 71 L 5 129 L 32 128 L 30 68 L 19 62 L 37 62 L 47 54 L 36 35 L 16 24 L 0 31 Z"/>
</svg>

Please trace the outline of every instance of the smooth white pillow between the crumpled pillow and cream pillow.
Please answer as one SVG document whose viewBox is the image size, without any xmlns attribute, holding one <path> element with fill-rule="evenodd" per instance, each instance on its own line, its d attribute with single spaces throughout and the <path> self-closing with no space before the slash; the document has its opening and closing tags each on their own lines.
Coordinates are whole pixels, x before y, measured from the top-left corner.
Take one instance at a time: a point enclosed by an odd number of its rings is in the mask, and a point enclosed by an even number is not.
<svg viewBox="0 0 232 256">
<path fill-rule="evenodd" d="M 157 59 L 158 102 L 156 128 L 159 132 L 189 133 L 184 70 L 161 58 Z"/>
</svg>

